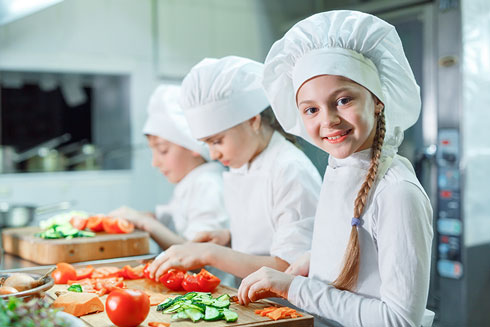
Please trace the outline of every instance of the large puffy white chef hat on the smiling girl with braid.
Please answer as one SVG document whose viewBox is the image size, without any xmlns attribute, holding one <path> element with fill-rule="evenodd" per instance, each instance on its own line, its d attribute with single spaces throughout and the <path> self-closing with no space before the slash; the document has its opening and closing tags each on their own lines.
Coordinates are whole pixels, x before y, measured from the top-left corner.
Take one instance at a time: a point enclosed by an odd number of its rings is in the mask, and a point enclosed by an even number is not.
<svg viewBox="0 0 490 327">
<path fill-rule="evenodd" d="M 275 42 L 265 60 L 263 85 L 283 128 L 310 143 L 296 104 L 308 79 L 340 75 L 364 86 L 385 105 L 385 145 L 397 148 L 420 114 L 420 89 L 395 28 L 361 12 L 315 14 Z M 314 144 L 314 143 L 313 143 Z"/>
</svg>

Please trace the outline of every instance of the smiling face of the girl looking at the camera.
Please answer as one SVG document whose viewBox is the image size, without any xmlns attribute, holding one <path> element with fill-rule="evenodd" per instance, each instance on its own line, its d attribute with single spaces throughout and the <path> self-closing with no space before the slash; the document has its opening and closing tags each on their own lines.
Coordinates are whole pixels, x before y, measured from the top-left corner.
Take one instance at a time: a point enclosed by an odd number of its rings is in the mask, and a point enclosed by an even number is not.
<svg viewBox="0 0 490 327">
<path fill-rule="evenodd" d="M 335 158 L 372 146 L 383 104 L 361 85 L 342 76 L 316 76 L 300 87 L 296 101 L 308 135 Z"/>
</svg>

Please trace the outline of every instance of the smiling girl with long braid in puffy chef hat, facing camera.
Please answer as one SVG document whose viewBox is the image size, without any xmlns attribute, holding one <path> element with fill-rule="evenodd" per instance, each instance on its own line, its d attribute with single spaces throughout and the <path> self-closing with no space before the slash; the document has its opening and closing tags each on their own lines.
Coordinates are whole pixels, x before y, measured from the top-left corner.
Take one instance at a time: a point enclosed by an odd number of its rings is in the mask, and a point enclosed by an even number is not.
<svg viewBox="0 0 490 327">
<path fill-rule="evenodd" d="M 248 276 L 240 302 L 275 294 L 330 323 L 420 326 L 432 208 L 396 154 L 421 101 L 395 28 L 355 11 L 313 15 L 272 46 L 263 85 L 285 130 L 330 156 L 311 254 L 289 274 Z"/>
</svg>

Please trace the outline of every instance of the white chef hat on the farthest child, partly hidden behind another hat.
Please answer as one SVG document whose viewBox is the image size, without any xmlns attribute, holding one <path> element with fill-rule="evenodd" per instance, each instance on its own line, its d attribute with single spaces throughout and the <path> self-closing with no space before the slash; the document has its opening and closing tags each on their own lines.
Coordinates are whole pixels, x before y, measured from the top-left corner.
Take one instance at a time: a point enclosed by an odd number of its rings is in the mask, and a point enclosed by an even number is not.
<svg viewBox="0 0 490 327">
<path fill-rule="evenodd" d="M 209 160 L 209 150 L 204 142 L 192 137 L 182 109 L 179 107 L 180 87 L 161 85 L 153 92 L 148 104 L 148 118 L 143 134 L 159 136 Z"/>
</svg>

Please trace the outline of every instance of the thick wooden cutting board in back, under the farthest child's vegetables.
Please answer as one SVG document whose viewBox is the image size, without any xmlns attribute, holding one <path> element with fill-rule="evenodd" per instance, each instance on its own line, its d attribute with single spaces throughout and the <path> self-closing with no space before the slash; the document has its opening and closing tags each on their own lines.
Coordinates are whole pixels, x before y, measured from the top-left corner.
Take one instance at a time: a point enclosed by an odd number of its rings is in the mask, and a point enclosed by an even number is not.
<svg viewBox="0 0 490 327">
<path fill-rule="evenodd" d="M 129 234 L 101 232 L 95 237 L 57 240 L 35 236 L 39 232 L 39 227 L 4 229 L 4 251 L 38 264 L 50 265 L 142 255 L 150 250 L 150 236 L 140 230 Z"/>
</svg>

